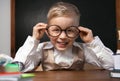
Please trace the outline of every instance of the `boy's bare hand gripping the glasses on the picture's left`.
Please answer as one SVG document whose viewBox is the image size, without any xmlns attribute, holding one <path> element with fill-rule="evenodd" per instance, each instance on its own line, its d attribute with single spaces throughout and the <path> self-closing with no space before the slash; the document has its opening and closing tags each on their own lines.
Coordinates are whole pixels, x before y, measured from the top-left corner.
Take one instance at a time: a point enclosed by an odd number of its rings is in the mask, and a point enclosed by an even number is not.
<svg viewBox="0 0 120 81">
<path fill-rule="evenodd" d="M 33 34 L 32 37 L 40 40 L 44 33 L 45 33 L 45 29 L 46 29 L 47 24 L 45 23 L 38 23 L 33 27 Z"/>
</svg>

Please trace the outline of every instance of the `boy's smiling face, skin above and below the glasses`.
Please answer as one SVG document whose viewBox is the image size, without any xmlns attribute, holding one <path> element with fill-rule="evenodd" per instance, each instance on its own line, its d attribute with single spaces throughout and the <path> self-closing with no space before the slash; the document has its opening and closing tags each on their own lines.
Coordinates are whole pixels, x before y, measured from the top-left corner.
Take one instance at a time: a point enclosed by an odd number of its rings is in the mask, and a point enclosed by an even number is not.
<svg viewBox="0 0 120 81">
<path fill-rule="evenodd" d="M 79 21 L 75 17 L 56 17 L 50 20 L 49 25 L 57 25 L 62 30 L 70 26 L 78 26 Z M 48 33 L 47 33 L 48 34 Z M 62 31 L 59 36 L 52 37 L 48 35 L 54 47 L 59 51 L 64 51 L 73 45 L 76 37 L 70 38 Z"/>
</svg>

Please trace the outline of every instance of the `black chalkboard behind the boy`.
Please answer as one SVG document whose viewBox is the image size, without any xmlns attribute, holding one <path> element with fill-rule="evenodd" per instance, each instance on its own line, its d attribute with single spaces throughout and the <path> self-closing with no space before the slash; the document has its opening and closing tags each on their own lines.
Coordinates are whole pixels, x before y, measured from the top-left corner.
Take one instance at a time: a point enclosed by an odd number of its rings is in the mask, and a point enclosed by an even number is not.
<svg viewBox="0 0 120 81">
<path fill-rule="evenodd" d="M 114 52 L 117 49 L 115 0 L 16 0 L 15 33 L 16 51 L 23 45 L 38 22 L 46 22 L 52 4 L 65 1 L 75 4 L 81 12 L 80 25 L 91 28 L 103 43 Z M 45 35 L 42 41 L 49 40 Z M 81 41 L 80 38 L 76 41 Z"/>
</svg>

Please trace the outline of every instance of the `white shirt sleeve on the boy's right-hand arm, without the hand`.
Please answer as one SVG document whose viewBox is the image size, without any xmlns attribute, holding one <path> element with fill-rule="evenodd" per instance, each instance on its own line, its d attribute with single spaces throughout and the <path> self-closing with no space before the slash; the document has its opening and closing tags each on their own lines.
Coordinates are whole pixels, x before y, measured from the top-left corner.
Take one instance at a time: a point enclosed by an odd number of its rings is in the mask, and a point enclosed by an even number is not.
<svg viewBox="0 0 120 81">
<path fill-rule="evenodd" d="M 105 47 L 99 37 L 95 37 L 91 43 L 86 43 L 84 46 L 85 59 L 88 63 L 108 70 L 113 69 L 113 52 Z"/>
</svg>

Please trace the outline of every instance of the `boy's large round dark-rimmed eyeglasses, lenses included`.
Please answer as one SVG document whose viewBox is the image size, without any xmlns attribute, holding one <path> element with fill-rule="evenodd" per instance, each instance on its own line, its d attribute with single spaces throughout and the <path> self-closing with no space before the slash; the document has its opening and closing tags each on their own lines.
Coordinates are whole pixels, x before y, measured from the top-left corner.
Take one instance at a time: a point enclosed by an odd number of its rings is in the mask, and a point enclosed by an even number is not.
<svg viewBox="0 0 120 81">
<path fill-rule="evenodd" d="M 64 31 L 67 37 L 75 38 L 79 35 L 79 32 L 80 32 L 77 26 L 70 26 L 63 30 L 58 25 L 50 25 L 50 26 L 47 26 L 46 30 L 48 34 L 52 37 L 57 37 L 62 33 L 62 31 Z"/>
</svg>

